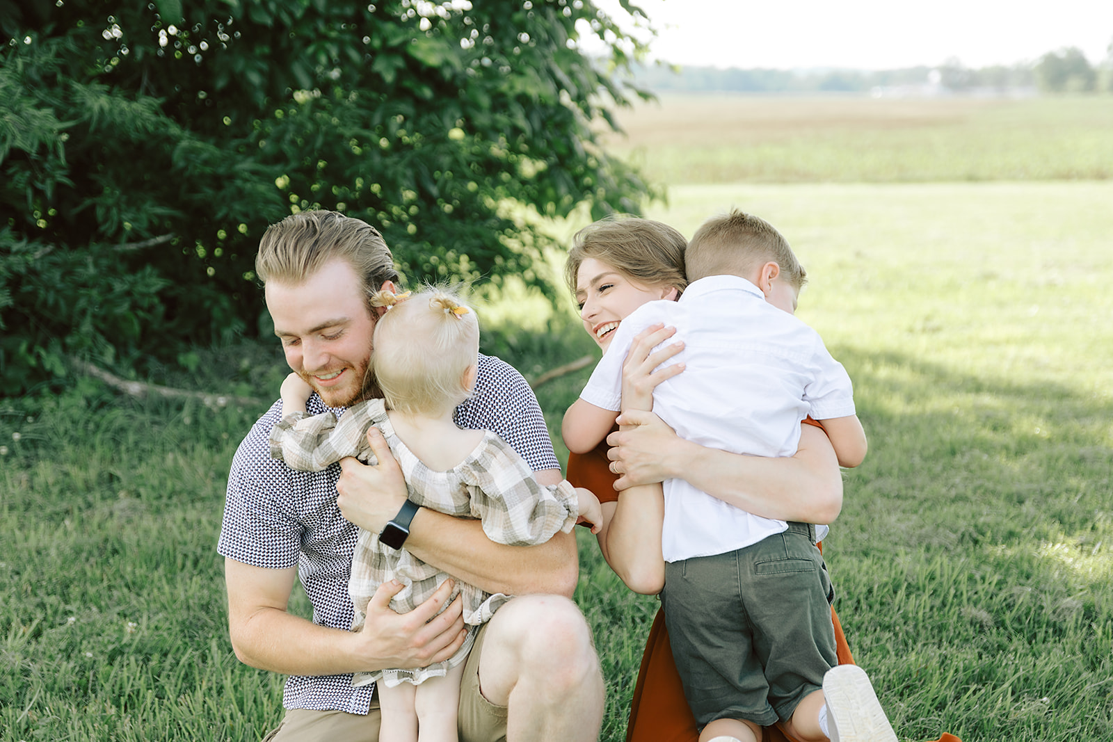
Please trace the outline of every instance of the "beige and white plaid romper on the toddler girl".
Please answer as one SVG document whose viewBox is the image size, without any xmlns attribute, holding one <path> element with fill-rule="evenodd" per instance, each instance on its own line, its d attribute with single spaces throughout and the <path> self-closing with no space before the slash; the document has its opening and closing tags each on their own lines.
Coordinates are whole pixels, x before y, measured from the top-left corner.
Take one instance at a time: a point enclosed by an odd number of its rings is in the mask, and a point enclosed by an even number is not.
<svg viewBox="0 0 1113 742">
<path fill-rule="evenodd" d="M 513 546 L 543 544 L 558 531 L 568 533 L 579 517 L 575 492 L 567 481 L 542 486 L 518 453 L 494 433 L 486 432 L 463 462 L 446 472 L 426 467 L 398 438 L 382 399 L 361 402 L 339 421 L 332 413 L 284 416 L 270 433 L 270 455 L 302 472 L 319 472 L 345 456 L 374 464 L 366 431 L 374 425 L 383 433 L 406 479 L 410 499 L 456 517 L 479 518 L 491 541 Z M 377 533 L 359 531 L 352 557 L 348 593 L 355 606 L 352 630 L 363 627 L 367 603 L 375 590 L 388 580 L 405 587 L 391 600 L 391 607 L 406 613 L 427 600 L 447 578 L 445 572 L 422 562 L 404 547 L 391 548 L 378 542 Z M 353 685 L 382 681 L 388 687 L 426 677 L 443 676 L 462 663 L 472 649 L 479 626 L 510 600 L 456 581 L 452 598 L 463 595 L 464 622 L 470 626 L 464 645 L 444 662 L 427 667 L 404 667 L 356 673 Z"/>
</svg>

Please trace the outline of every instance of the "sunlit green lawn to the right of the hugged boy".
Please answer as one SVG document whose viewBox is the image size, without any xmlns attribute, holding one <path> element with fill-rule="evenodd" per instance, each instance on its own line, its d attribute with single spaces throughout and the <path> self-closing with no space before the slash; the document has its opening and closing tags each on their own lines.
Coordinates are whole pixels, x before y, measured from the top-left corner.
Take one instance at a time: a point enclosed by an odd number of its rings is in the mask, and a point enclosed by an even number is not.
<svg viewBox="0 0 1113 742">
<path fill-rule="evenodd" d="M 688 235 L 731 206 L 762 215 L 809 271 L 799 316 L 871 441 L 826 556 L 902 739 L 1113 734 L 1110 202 L 1109 182 L 739 185 L 650 211 Z M 637 606 L 643 635 L 654 606 Z"/>
</svg>

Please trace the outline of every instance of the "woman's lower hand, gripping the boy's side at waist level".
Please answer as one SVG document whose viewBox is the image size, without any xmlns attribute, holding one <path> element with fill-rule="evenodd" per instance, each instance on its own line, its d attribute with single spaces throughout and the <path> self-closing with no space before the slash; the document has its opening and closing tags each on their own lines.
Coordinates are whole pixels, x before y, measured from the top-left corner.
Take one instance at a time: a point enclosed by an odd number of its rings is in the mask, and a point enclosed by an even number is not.
<svg viewBox="0 0 1113 742">
<path fill-rule="evenodd" d="M 611 472 L 621 475 L 614 482 L 618 491 L 640 484 L 654 484 L 677 476 L 671 458 L 688 444 L 653 413 L 631 409 L 619 415 L 618 433 L 607 436 L 611 449 Z"/>
</svg>

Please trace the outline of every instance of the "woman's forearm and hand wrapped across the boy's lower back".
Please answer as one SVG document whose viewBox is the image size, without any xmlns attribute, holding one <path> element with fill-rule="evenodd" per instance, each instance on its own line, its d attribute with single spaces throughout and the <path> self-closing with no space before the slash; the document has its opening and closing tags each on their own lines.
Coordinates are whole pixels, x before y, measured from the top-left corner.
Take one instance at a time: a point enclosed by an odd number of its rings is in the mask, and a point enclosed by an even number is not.
<svg viewBox="0 0 1113 742">
<path fill-rule="evenodd" d="M 755 515 L 806 523 L 831 523 L 843 508 L 835 451 L 814 425 L 801 426 L 795 456 L 767 458 L 684 441 L 652 413 L 624 412 L 618 422 L 631 427 L 607 438 L 622 475 L 617 489 L 679 478 Z"/>
</svg>

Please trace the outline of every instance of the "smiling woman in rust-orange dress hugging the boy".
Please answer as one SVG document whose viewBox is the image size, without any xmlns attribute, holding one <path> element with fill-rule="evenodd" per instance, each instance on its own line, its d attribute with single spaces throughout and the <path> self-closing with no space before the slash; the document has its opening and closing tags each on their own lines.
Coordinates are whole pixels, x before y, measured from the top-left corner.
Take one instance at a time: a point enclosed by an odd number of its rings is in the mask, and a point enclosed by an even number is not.
<svg viewBox="0 0 1113 742">
<path fill-rule="evenodd" d="M 647 219 L 608 219 L 581 230 L 574 238 L 567 278 L 581 307 L 584 329 L 607 349 L 613 330 L 651 299 L 676 299 L 687 285 L 683 275 L 684 238 L 674 229 Z M 638 336 L 623 367 L 623 402 L 628 395 L 646 399 L 653 387 L 679 373 L 677 366 L 654 373 L 679 352 L 652 348 L 671 336 L 651 328 Z M 741 456 L 683 441 L 652 413 L 627 412 L 622 432 L 588 454 L 572 454 L 568 476 L 603 502 L 603 527 L 598 537 L 604 558 L 632 588 L 641 571 L 660 561 L 663 511 L 660 502 L 634 488 L 624 498 L 614 491 L 683 478 L 720 499 L 770 518 L 829 523 L 841 507 L 841 476 L 835 452 L 821 428 L 804 425 L 797 454 L 790 458 Z M 615 446 L 608 451 L 608 445 Z M 651 578 L 649 580 L 651 583 Z M 838 662 L 853 663 L 849 647 L 831 609 Z M 696 720 L 683 696 L 669 646 L 663 616 L 658 612 L 650 630 L 634 689 L 627 728 L 628 742 L 696 742 Z M 765 740 L 789 740 L 767 728 Z M 945 734 L 940 742 L 956 740 Z"/>
</svg>

